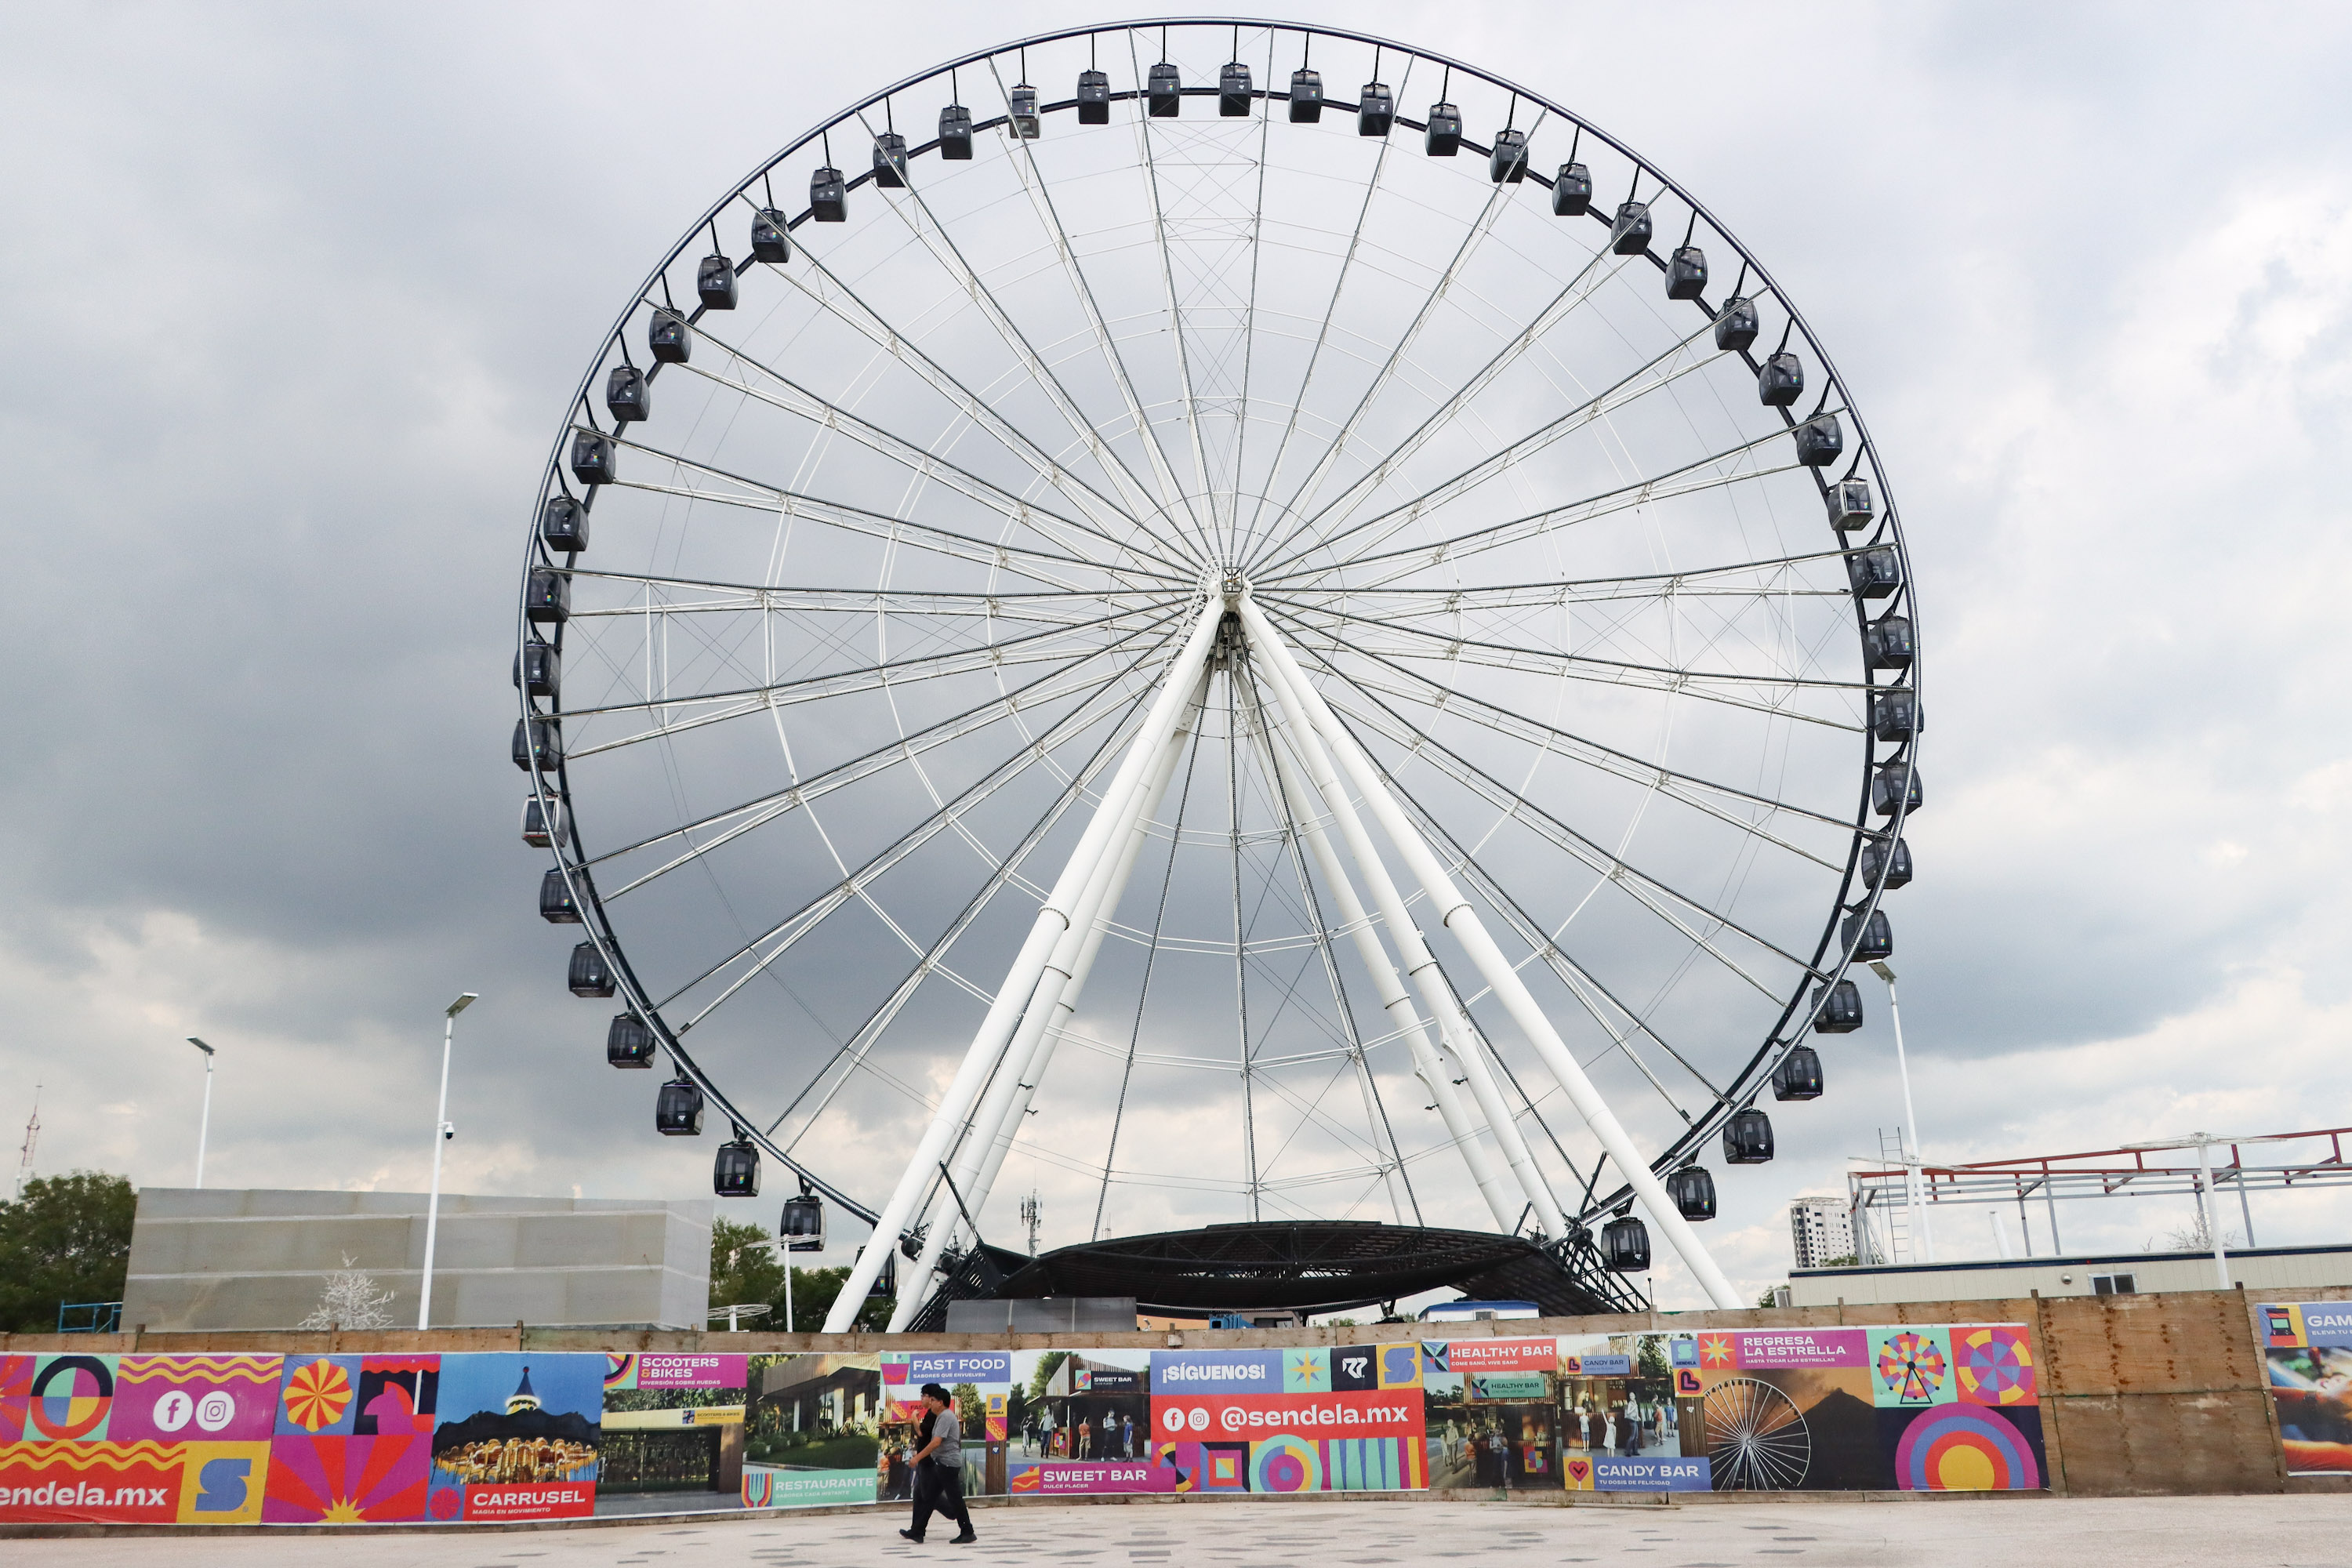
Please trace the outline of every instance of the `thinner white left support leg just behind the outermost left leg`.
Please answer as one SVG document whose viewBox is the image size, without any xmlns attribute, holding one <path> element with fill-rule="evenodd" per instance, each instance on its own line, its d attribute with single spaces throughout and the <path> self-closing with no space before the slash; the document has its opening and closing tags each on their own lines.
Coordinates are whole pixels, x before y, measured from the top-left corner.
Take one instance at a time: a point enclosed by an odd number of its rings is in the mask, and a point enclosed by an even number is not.
<svg viewBox="0 0 2352 1568">
<path fill-rule="evenodd" d="M 1037 976 L 1030 1004 L 1021 1013 L 1021 1027 L 1014 1030 L 1011 1044 L 1004 1048 L 1004 1065 L 988 1081 L 981 1110 L 974 1114 L 971 1128 L 964 1133 L 948 1166 L 955 1194 L 941 1192 L 931 1204 L 931 1215 L 936 1218 L 924 1234 L 922 1258 L 901 1281 L 889 1333 L 906 1331 L 929 1295 L 931 1274 L 938 1272 L 938 1258 L 948 1251 L 948 1241 L 957 1229 L 960 1213 L 955 1199 L 962 1199 L 962 1208 L 971 1213 L 974 1222 L 981 1218 L 981 1206 L 988 1204 L 988 1187 L 995 1182 L 997 1164 L 1002 1164 L 1002 1154 L 990 1159 L 990 1150 L 1000 1138 L 1011 1145 L 1011 1128 L 1028 1112 L 1028 1098 L 1044 1072 L 1047 1058 L 1054 1053 L 1051 1027 L 1056 1023 L 1056 1004 L 1065 1009 L 1077 1006 L 1075 992 L 1087 983 L 1087 966 L 1103 945 L 1103 919 L 1120 907 L 1120 893 L 1127 891 L 1127 875 L 1143 849 L 1143 827 L 1150 823 L 1152 811 L 1160 809 L 1160 797 L 1167 795 L 1169 778 L 1176 776 L 1176 764 L 1192 738 L 1192 722 L 1207 684 L 1209 672 L 1202 670 L 1200 679 L 1192 682 L 1183 719 L 1176 722 L 1176 729 L 1169 731 L 1167 743 L 1160 748 L 1160 757 L 1152 759 L 1143 795 L 1120 820 L 1117 837 L 1096 863 L 1094 875 L 1087 879 L 1087 891 L 1080 893 L 1077 905 L 1070 910 L 1070 926 L 1054 943 L 1054 954 Z"/>
</svg>

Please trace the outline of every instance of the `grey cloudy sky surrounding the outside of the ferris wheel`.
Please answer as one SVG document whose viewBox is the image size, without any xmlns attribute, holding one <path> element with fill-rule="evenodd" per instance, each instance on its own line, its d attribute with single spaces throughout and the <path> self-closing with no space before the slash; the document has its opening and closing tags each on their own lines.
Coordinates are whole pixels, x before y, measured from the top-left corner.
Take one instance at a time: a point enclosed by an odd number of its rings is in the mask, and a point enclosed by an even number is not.
<svg viewBox="0 0 2352 1568">
<path fill-rule="evenodd" d="M 14 7 L 0 19 L 12 745 L 0 1126 L 186 1185 L 708 1192 L 560 987 L 506 759 L 546 442 L 614 308 L 774 146 L 1068 5 Z M 2352 122 L 2328 7 L 1305 7 L 1505 68 L 1696 190 L 1867 409 L 1922 588 L 1900 893 L 1931 1157 L 2352 1121 L 2331 461 Z M 1710 1241 L 1900 1119 L 1884 1009 Z M 764 1208 L 762 1208 L 764 1213 Z M 2265 1244 L 2343 1234 L 2328 1194 Z M 2187 1204 L 2084 1204 L 2136 1251 Z M 2046 1246 L 2042 1220 L 2037 1248 Z M 1940 1227 L 1990 1253 L 1985 1211 Z M 1689 1293 L 1661 1269 L 1668 1302 Z"/>
</svg>

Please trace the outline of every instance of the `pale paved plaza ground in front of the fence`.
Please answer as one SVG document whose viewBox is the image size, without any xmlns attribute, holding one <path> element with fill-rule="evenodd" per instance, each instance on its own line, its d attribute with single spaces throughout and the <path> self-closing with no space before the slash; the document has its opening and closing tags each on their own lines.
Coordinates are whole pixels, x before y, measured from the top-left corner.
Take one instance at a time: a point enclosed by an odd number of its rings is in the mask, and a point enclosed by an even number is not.
<svg viewBox="0 0 2352 1568">
<path fill-rule="evenodd" d="M 2352 1563 L 2352 1495 L 1933 1497 L 1526 1507 L 1505 1502 L 1192 1502 L 983 1507 L 981 1540 L 898 1540 L 903 1507 L 522 1533 L 9 1540 L 14 1568 L 868 1568 L 1042 1561 L 1056 1568 L 1357 1568 L 1359 1563 L 1823 1563 L 1893 1568 L 2319 1568 Z"/>
</svg>

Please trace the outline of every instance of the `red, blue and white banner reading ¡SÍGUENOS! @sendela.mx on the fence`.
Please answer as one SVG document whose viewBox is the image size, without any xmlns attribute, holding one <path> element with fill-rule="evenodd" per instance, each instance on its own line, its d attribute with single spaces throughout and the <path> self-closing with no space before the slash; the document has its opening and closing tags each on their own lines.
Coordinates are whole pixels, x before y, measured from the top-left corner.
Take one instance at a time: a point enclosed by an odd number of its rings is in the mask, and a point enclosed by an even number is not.
<svg viewBox="0 0 2352 1568">
<path fill-rule="evenodd" d="M 1155 1349 L 1152 1476 L 1169 1493 L 1418 1490 L 1421 1345 Z"/>
</svg>

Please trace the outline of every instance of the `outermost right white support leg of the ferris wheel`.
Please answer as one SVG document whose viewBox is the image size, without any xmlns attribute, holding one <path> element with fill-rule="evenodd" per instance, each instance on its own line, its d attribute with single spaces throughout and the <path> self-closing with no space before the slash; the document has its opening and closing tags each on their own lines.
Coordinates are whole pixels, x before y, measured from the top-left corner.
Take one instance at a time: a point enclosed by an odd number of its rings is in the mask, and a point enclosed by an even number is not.
<svg viewBox="0 0 2352 1568">
<path fill-rule="evenodd" d="M 1421 882 L 1421 889 L 1435 900 L 1446 931 L 1451 931 L 1463 945 L 1470 964 L 1477 966 L 1486 985 L 1494 987 L 1496 999 L 1510 1013 L 1512 1023 L 1517 1023 L 1526 1034 L 1536 1056 L 1543 1058 L 1543 1065 L 1552 1070 L 1552 1079 L 1559 1081 L 1559 1088 L 1585 1117 L 1592 1135 L 1599 1138 L 1604 1150 L 1609 1150 L 1609 1159 L 1618 1164 L 1625 1180 L 1642 1199 L 1642 1206 L 1649 1208 L 1651 1222 L 1665 1232 L 1675 1253 L 1717 1307 L 1743 1307 L 1745 1302 L 1740 1300 L 1740 1293 L 1731 1288 L 1731 1279 L 1726 1279 L 1715 1258 L 1708 1255 L 1698 1232 L 1691 1229 L 1691 1222 L 1682 1218 L 1679 1208 L 1675 1208 L 1675 1201 L 1665 1194 L 1665 1182 L 1661 1182 L 1658 1173 L 1649 1168 L 1642 1150 L 1635 1147 L 1632 1135 L 1616 1119 L 1616 1112 L 1609 1110 L 1609 1103 L 1592 1086 L 1592 1079 L 1588 1079 L 1585 1070 L 1576 1065 L 1576 1056 L 1569 1051 L 1566 1041 L 1559 1039 L 1559 1032 L 1552 1027 L 1552 1020 L 1543 1016 L 1543 1009 L 1536 1006 L 1526 983 L 1519 980 L 1519 971 L 1512 969 L 1510 959 L 1503 957 L 1503 950 L 1496 947 L 1494 938 L 1486 933 L 1486 924 L 1477 917 L 1477 910 L 1461 896 L 1454 879 L 1446 875 L 1446 867 L 1428 846 L 1428 839 L 1421 837 L 1421 830 L 1404 816 L 1395 795 L 1388 792 L 1388 785 L 1381 780 L 1378 769 L 1374 769 L 1371 757 L 1364 755 L 1364 750 L 1355 743 L 1355 736 L 1350 736 L 1338 722 L 1338 715 L 1334 715 L 1329 703 L 1322 701 L 1322 693 L 1315 691 L 1312 682 L 1308 682 L 1305 670 L 1291 651 L 1282 646 L 1282 639 L 1275 635 L 1265 611 L 1261 611 L 1247 592 L 1242 595 L 1240 611 L 1251 651 L 1263 654 L 1268 665 L 1279 672 L 1282 682 L 1277 689 L 1289 689 L 1305 705 L 1317 733 L 1338 755 L 1348 776 L 1371 806 L 1371 813 L 1381 818 L 1381 830 L 1397 846 L 1397 853 L 1404 856 L 1404 863 Z"/>
</svg>

